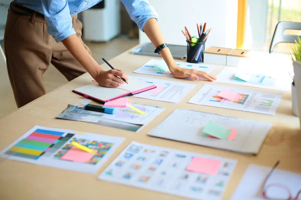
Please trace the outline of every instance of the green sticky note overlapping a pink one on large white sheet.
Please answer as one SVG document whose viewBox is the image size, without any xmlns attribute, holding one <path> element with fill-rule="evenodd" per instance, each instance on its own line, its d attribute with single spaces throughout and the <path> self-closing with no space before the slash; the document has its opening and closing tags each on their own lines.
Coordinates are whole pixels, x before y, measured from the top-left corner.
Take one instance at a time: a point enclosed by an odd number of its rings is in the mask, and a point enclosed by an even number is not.
<svg viewBox="0 0 301 200">
<path fill-rule="evenodd" d="M 206 134 L 210 134 L 212 136 L 215 136 L 219 139 L 226 139 L 228 140 L 228 137 L 231 133 L 231 129 L 225 128 L 217 123 L 214 123 L 212 121 L 209 121 L 206 126 L 203 129 L 203 132 Z"/>
</svg>

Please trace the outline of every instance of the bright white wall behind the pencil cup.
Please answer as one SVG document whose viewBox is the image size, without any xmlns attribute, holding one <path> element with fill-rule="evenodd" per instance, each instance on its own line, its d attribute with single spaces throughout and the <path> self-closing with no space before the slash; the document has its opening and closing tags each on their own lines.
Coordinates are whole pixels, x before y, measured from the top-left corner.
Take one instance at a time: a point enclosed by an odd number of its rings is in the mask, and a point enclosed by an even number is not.
<svg viewBox="0 0 301 200">
<path fill-rule="evenodd" d="M 159 25 L 168 43 L 186 44 L 181 32 L 186 25 L 197 35 L 196 23 L 212 28 L 206 47 L 236 48 L 238 0 L 148 0 L 159 14 Z M 139 43 L 149 41 L 139 32 Z"/>
</svg>

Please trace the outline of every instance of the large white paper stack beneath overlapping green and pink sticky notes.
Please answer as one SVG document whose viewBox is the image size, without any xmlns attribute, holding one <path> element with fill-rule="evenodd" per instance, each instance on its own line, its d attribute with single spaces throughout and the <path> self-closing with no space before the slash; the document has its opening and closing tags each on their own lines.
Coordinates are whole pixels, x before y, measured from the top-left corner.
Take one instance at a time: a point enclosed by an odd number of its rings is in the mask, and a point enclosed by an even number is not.
<svg viewBox="0 0 301 200">
<path fill-rule="evenodd" d="M 237 129 L 235 139 L 209 137 L 203 131 L 209 122 L 228 129 Z M 270 123 L 189 109 L 176 109 L 148 135 L 240 153 L 257 154 L 270 128 Z"/>
</svg>

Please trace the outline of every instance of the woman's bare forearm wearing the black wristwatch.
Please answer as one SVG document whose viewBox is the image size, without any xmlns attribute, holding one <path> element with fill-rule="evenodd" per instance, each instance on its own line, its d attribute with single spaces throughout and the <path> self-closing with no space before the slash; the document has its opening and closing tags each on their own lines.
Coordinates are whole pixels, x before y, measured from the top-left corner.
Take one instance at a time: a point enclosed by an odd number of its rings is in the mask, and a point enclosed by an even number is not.
<svg viewBox="0 0 301 200">
<path fill-rule="evenodd" d="M 156 46 L 156 48 L 163 44 L 166 43 L 162 32 L 159 28 L 159 24 L 156 18 L 150 18 L 146 21 L 144 27 L 143 27 L 143 31 L 145 32 L 145 34 L 148 36 L 148 38 L 150 39 L 150 41 L 152 41 L 152 43 L 154 44 L 154 46 Z M 163 48 L 160 51 L 160 54 L 162 55 L 163 59 L 165 60 L 165 62 L 167 63 L 167 65 L 169 67 L 173 67 L 175 66 L 175 60 L 172 56 L 172 53 L 170 51 L 169 48 Z M 171 69 L 171 68 L 170 68 Z"/>
</svg>

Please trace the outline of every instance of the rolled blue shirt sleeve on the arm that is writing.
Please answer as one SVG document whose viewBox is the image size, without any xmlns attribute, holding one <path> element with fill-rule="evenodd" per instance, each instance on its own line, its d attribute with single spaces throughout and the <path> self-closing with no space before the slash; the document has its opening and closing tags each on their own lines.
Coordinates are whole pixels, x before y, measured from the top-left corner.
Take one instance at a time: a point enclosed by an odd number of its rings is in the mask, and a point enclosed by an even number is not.
<svg viewBox="0 0 301 200">
<path fill-rule="evenodd" d="M 48 33 L 60 42 L 76 34 L 67 0 L 42 0 L 42 8 L 47 21 Z"/>
</svg>

